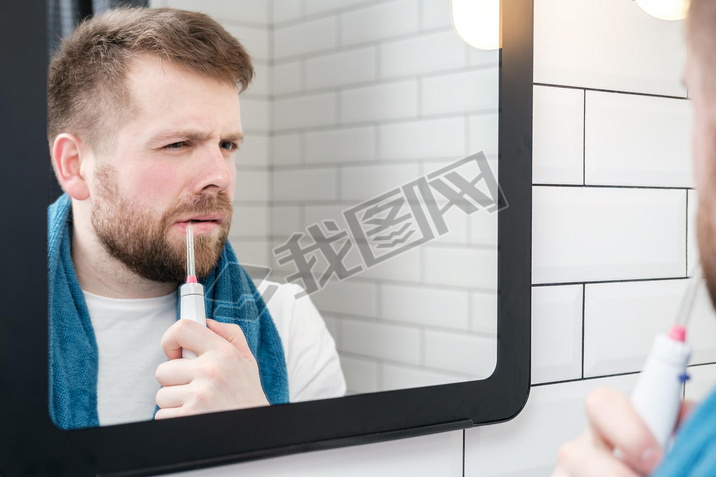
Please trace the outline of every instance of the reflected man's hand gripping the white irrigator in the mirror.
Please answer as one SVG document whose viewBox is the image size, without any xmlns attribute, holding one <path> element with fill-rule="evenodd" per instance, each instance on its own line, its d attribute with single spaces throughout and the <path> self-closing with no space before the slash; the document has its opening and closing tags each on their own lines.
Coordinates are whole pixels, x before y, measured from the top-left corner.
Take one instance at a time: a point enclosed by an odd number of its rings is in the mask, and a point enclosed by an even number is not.
<svg viewBox="0 0 716 477">
<path fill-rule="evenodd" d="M 206 325 L 178 320 L 164 333 L 162 349 L 169 361 L 157 368 L 162 389 L 155 419 L 269 404 L 241 328 L 211 319 Z M 182 348 L 197 357 L 182 359 Z"/>
</svg>

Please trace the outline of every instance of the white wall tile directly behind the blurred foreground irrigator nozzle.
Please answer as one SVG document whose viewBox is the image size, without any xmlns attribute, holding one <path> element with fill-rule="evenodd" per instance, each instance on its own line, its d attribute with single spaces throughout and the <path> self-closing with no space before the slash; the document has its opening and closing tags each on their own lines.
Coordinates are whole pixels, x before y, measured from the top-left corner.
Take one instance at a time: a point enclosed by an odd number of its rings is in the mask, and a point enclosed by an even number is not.
<svg viewBox="0 0 716 477">
<path fill-rule="evenodd" d="M 641 369 L 654 336 L 676 320 L 687 280 L 586 285 L 584 375 Z M 716 317 L 705 289 L 698 294 L 687 339 L 691 363 L 716 361 Z"/>
</svg>

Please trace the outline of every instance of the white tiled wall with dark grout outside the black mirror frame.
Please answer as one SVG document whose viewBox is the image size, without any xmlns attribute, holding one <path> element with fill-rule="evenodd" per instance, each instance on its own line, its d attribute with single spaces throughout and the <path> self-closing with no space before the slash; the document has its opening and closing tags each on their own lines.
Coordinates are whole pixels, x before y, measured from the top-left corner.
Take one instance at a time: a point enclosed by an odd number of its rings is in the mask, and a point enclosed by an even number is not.
<svg viewBox="0 0 716 477">
<path fill-rule="evenodd" d="M 273 18 L 353 3 L 275 0 Z M 535 0 L 533 388 L 517 418 L 187 475 L 548 475 L 585 396 L 629 392 L 696 259 L 681 30 L 626 0 Z M 699 398 L 716 382 L 705 296 L 690 341 Z"/>
</svg>

